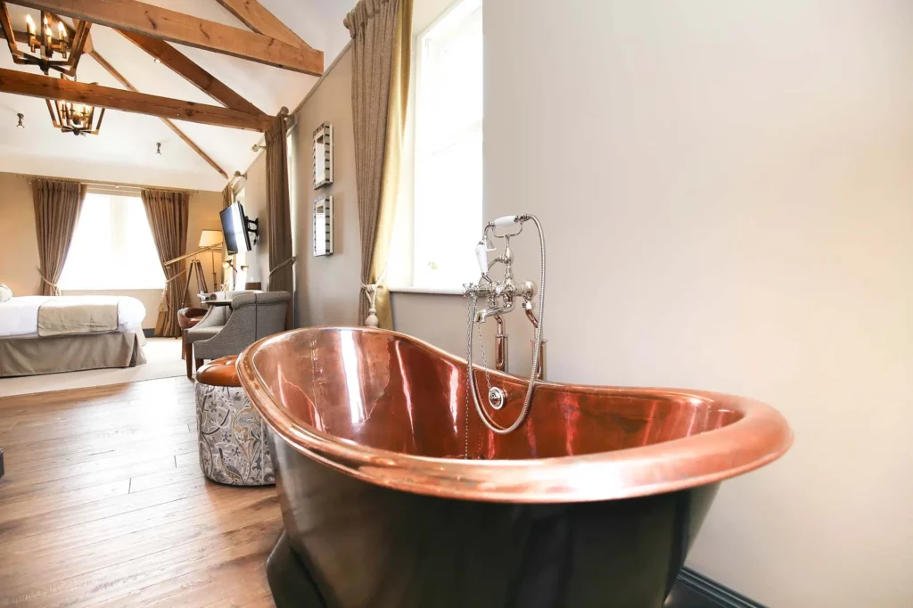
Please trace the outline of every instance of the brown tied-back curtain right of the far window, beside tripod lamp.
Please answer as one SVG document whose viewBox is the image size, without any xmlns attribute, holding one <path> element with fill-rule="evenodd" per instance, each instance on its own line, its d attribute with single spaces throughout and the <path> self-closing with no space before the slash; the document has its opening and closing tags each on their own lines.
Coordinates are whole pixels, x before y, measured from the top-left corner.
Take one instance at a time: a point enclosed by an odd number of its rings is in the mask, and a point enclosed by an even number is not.
<svg viewBox="0 0 913 608">
<path fill-rule="evenodd" d="M 165 266 L 167 260 L 183 256 L 187 249 L 187 215 L 190 195 L 185 192 L 170 190 L 142 189 L 142 206 L 152 228 L 152 238 L 159 251 L 159 261 L 168 283 L 159 304 L 159 317 L 155 321 L 155 335 L 180 336 L 177 325 L 177 311 L 184 302 L 184 281 L 186 261 L 181 260 Z"/>
</svg>

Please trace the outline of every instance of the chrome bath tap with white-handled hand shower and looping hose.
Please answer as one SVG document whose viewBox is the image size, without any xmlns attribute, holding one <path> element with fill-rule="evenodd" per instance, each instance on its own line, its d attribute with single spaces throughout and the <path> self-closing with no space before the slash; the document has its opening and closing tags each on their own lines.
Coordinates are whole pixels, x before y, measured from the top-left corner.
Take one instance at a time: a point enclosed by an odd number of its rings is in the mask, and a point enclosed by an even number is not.
<svg viewBox="0 0 913 608">
<path fill-rule="evenodd" d="M 518 236 L 523 232 L 523 225 L 526 222 L 532 222 L 536 225 L 539 233 L 540 245 L 540 283 L 539 283 L 539 317 L 533 313 L 532 299 L 536 295 L 536 286 L 532 281 L 518 281 L 513 274 L 513 250 L 510 248 L 510 239 Z M 496 228 L 509 228 L 513 226 L 513 232 L 498 234 Z M 494 251 L 495 247 L 491 245 L 492 238 L 504 240 L 504 251 L 498 257 L 488 260 L 488 252 Z M 469 393 L 472 393 L 473 402 L 476 405 L 476 411 L 482 422 L 488 428 L 500 435 L 505 435 L 515 431 L 519 425 L 523 424 L 530 410 L 532 402 L 532 392 L 535 388 L 536 381 L 541 378 L 541 355 L 542 355 L 542 310 L 545 306 L 545 237 L 542 234 L 542 225 L 535 215 L 506 215 L 499 217 L 482 230 L 482 238 L 476 246 L 476 259 L 481 276 L 477 283 L 467 283 L 463 286 L 464 296 L 469 300 L 469 318 L 467 320 L 467 370 L 469 381 Z M 500 280 L 491 278 L 491 269 L 500 264 L 504 267 L 504 277 Z M 477 309 L 478 300 L 483 299 L 486 302 L 486 308 Z M 498 333 L 495 336 L 495 365 L 500 372 L 506 370 L 507 365 L 507 345 L 508 337 L 504 333 L 504 323 L 501 315 L 504 315 L 514 308 L 514 302 L 522 299 L 521 308 L 526 312 L 530 319 L 534 333 L 534 345 L 532 353 L 532 371 L 530 372 L 530 384 L 527 387 L 526 399 L 523 403 L 518 419 L 513 425 L 500 426 L 494 423 L 482 409 L 476 390 L 476 378 L 472 372 L 472 355 L 473 355 L 473 326 L 484 323 L 489 317 L 494 317 L 498 323 Z M 488 405 L 499 410 L 507 402 L 507 394 L 497 386 L 491 386 L 488 378 L 488 363 L 485 361 L 485 349 L 482 349 L 482 364 L 486 370 L 486 381 L 488 383 Z M 468 406 L 468 404 L 467 404 Z"/>
</svg>

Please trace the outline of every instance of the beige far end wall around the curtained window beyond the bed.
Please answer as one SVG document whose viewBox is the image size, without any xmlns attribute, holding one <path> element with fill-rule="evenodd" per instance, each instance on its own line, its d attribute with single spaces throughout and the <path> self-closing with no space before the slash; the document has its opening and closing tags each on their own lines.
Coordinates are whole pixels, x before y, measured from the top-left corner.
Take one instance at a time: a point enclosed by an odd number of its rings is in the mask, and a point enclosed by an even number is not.
<svg viewBox="0 0 913 608">
<path fill-rule="evenodd" d="M 222 194 L 217 192 L 194 192 L 190 196 L 187 227 L 187 251 L 194 251 L 200 242 L 200 231 L 221 230 L 218 213 L 222 209 Z M 0 238 L 0 283 L 6 283 L 16 296 L 36 295 L 40 291 L 38 278 L 38 246 L 35 236 L 35 207 L 29 178 L 13 173 L 0 173 L 0 222 L 3 238 Z M 203 262 L 207 287 L 212 288 L 213 263 L 206 253 L 200 256 Z M 216 276 L 221 281 L 221 254 L 215 252 Z M 196 292 L 199 286 L 191 284 L 192 306 L 199 305 Z M 66 295 L 95 294 L 99 291 L 67 290 Z M 131 296 L 139 299 L 146 307 L 146 318 L 142 327 L 155 327 L 156 310 L 162 296 L 161 289 L 118 289 L 103 293 Z"/>
</svg>

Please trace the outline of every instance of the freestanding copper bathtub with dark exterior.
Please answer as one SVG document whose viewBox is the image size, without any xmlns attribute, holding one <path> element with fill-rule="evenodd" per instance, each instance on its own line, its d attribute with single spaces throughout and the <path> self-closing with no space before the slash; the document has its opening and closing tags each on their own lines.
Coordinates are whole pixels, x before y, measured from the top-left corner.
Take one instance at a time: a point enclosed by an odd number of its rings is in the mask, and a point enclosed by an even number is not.
<svg viewBox="0 0 913 608">
<path fill-rule="evenodd" d="M 384 330 L 289 331 L 238 373 L 273 431 L 278 608 L 658 608 L 719 482 L 792 443 L 750 399 L 557 383 L 494 435 L 464 360 Z M 526 383 L 489 375 L 508 425 Z"/>
</svg>

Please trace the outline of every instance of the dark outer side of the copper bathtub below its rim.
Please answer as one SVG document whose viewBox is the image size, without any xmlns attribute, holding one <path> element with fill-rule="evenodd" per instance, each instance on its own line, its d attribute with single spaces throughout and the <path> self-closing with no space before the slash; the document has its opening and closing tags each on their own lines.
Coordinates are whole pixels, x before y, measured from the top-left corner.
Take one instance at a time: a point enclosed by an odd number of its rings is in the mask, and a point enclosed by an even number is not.
<svg viewBox="0 0 913 608">
<path fill-rule="evenodd" d="M 271 435 L 277 608 L 659 608 L 719 484 L 511 504 L 377 486 Z"/>
</svg>

